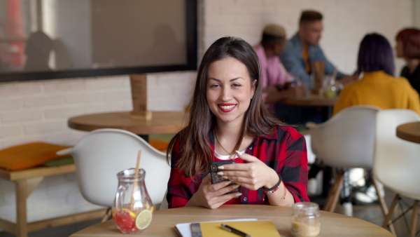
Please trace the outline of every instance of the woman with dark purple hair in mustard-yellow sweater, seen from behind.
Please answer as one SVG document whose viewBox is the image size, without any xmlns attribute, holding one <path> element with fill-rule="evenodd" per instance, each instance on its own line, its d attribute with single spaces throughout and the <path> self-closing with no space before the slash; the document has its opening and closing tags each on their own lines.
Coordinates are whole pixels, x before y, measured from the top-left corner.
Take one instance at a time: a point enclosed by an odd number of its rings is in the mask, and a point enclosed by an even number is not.
<svg viewBox="0 0 420 237">
<path fill-rule="evenodd" d="M 407 79 L 393 76 L 393 51 L 384 36 L 372 33 L 363 38 L 357 65 L 358 73 L 363 76 L 343 88 L 333 114 L 353 105 L 412 109 L 420 114 L 419 94 Z"/>
</svg>

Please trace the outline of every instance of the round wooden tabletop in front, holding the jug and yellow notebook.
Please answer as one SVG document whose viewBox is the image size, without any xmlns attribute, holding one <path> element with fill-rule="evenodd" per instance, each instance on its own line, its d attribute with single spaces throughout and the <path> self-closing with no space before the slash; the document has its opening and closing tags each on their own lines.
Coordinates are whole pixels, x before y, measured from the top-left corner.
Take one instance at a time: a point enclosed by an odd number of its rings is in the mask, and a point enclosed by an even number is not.
<svg viewBox="0 0 420 237">
<path fill-rule="evenodd" d="M 321 212 L 320 236 L 393 236 L 389 231 L 362 219 L 333 212 Z M 153 212 L 151 225 L 139 234 L 130 236 L 179 236 L 175 225 L 187 222 L 206 222 L 225 219 L 258 218 L 272 220 L 282 237 L 291 236 L 291 208 L 269 205 L 223 205 L 211 210 L 202 207 L 174 208 Z M 113 220 L 87 227 L 72 237 L 127 236 L 120 233 Z"/>
</svg>

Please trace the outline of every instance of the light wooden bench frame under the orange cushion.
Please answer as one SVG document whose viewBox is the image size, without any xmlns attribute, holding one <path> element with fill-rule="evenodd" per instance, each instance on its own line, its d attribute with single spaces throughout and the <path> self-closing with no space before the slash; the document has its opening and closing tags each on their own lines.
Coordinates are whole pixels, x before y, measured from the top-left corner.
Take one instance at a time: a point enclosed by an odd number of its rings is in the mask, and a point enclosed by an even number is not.
<svg viewBox="0 0 420 237">
<path fill-rule="evenodd" d="M 8 171 L 0 169 L 0 178 L 15 183 L 16 194 L 16 223 L 8 222 L 0 218 L 0 229 L 15 233 L 16 236 L 28 236 L 29 231 L 36 231 L 51 226 L 82 222 L 87 219 L 96 219 L 105 214 L 105 210 L 96 210 L 66 217 L 57 217 L 39 222 L 27 223 L 27 198 L 34 189 L 41 183 L 44 177 L 50 175 L 62 175 L 76 172 L 76 166 L 59 165 L 52 167 L 36 167 L 27 170 Z M 63 203 L 64 204 L 64 203 Z"/>
</svg>

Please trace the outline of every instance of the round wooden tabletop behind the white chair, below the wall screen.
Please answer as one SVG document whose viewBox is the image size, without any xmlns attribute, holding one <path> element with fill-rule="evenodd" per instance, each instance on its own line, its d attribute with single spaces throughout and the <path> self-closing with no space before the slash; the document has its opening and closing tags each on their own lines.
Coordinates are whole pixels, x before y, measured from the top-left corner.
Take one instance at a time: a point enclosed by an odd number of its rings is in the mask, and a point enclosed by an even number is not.
<svg viewBox="0 0 420 237">
<path fill-rule="evenodd" d="M 130 111 L 101 114 L 85 114 L 69 118 L 70 128 L 92 131 L 99 128 L 118 128 L 146 138 L 149 134 L 178 133 L 183 126 L 185 112 L 153 111 L 151 120 L 132 118 Z"/>
</svg>

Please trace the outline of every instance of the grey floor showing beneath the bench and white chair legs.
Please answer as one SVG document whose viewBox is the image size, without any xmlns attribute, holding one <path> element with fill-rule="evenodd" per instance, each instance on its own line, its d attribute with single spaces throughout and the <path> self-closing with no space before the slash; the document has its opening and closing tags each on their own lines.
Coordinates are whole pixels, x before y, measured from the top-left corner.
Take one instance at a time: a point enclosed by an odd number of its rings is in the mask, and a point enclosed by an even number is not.
<svg viewBox="0 0 420 237">
<path fill-rule="evenodd" d="M 385 190 L 386 192 L 386 204 L 389 206 L 391 205 L 391 202 L 393 200 L 394 194 L 391 191 Z M 412 205 L 413 201 L 409 200 L 408 198 L 403 198 L 404 201 Z M 337 209 L 335 212 L 342 213 L 343 209 L 340 205 L 337 206 Z M 398 213 L 401 213 L 400 210 L 397 211 Z M 397 214 L 398 215 L 398 214 Z M 396 215 L 394 215 L 395 217 Z M 410 210 L 407 213 L 407 224 L 411 223 L 411 216 L 412 211 Z M 381 208 L 378 204 L 372 204 L 372 205 L 353 205 L 353 217 L 364 219 L 367 222 L 372 222 L 373 224 L 381 225 L 384 221 L 384 217 L 381 212 Z M 85 229 L 87 226 L 91 226 L 93 224 L 99 223 L 99 219 L 87 221 L 87 222 L 80 222 L 76 224 L 69 224 L 65 226 L 58 226 L 53 227 L 49 229 L 43 229 L 40 231 L 33 231 L 29 233 L 29 237 L 64 237 L 69 236 L 72 233 L 75 233 L 76 231 L 79 231 L 81 229 Z M 407 226 L 405 225 L 404 219 L 399 219 L 394 224 L 395 231 L 397 233 L 397 236 L 409 236 L 409 231 L 407 229 Z M 420 229 L 420 218 L 417 221 L 417 229 Z M 13 234 L 10 233 L 0 233 L 0 237 L 13 237 Z M 420 236 L 420 233 L 417 233 L 417 236 Z"/>
</svg>

